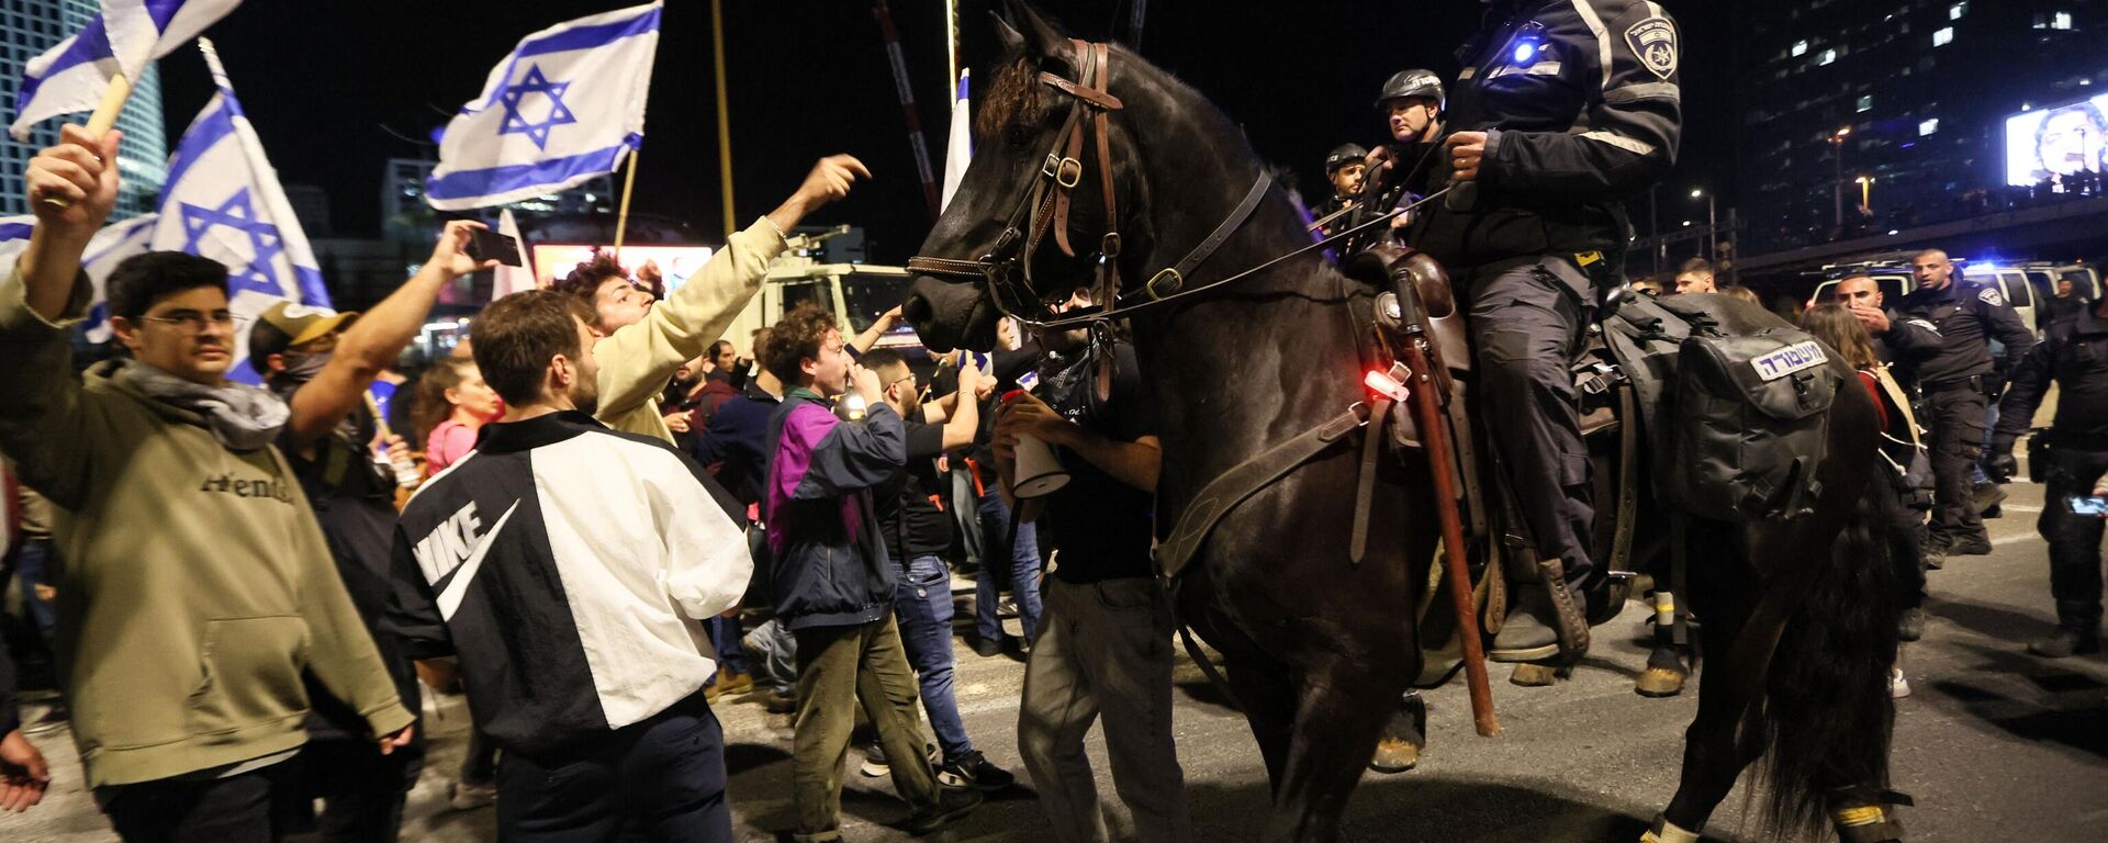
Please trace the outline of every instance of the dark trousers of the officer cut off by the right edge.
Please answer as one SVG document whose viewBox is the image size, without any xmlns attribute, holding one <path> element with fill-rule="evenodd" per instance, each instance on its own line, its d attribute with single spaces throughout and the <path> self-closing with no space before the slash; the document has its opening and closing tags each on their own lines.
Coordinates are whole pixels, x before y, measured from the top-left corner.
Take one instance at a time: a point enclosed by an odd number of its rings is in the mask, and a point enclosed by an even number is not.
<svg viewBox="0 0 2108 843">
<path fill-rule="evenodd" d="M 2100 632 L 2102 626 L 2102 516 L 2072 512 L 2072 497 L 2087 497 L 2108 474 L 2108 451 L 2049 449 L 2043 516 L 2034 529 L 2049 540 L 2049 596 L 2057 626 Z"/>
</svg>

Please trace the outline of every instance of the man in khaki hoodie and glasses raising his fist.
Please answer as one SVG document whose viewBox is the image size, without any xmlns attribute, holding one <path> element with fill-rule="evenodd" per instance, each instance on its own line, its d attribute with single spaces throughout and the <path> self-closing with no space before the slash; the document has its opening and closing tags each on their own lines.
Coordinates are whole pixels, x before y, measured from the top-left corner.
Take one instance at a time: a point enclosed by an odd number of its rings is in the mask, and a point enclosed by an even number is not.
<svg viewBox="0 0 2108 843">
<path fill-rule="evenodd" d="M 67 327 L 93 295 L 80 255 L 116 202 L 116 150 L 118 133 L 65 126 L 30 162 L 38 223 L 0 282 L 0 451 L 57 508 L 74 740 L 118 835 L 270 841 L 274 767 L 306 742 L 304 672 L 384 752 L 413 717 L 270 445 L 289 409 L 226 379 L 226 268 L 120 263 L 110 327 L 131 358 L 74 377 Z"/>
</svg>

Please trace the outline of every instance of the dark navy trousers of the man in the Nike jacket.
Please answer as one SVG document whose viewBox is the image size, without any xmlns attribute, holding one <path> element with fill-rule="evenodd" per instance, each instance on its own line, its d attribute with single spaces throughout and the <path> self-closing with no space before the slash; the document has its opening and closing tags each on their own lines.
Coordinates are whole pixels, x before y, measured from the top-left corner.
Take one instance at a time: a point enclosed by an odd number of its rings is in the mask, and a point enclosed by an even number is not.
<svg viewBox="0 0 2108 843">
<path fill-rule="evenodd" d="M 725 733 L 702 693 L 594 740 L 578 757 L 497 761 L 497 839 L 731 843 Z"/>
</svg>

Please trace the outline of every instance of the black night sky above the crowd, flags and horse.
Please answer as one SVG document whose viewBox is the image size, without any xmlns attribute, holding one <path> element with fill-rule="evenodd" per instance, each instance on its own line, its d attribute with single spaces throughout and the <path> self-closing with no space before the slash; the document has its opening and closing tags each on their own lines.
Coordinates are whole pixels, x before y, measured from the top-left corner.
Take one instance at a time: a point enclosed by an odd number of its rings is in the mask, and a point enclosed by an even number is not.
<svg viewBox="0 0 2108 843">
<path fill-rule="evenodd" d="M 1084 38 L 1126 34 L 1132 0 L 1060 0 L 1041 8 Z M 251 0 L 209 36 L 287 183 L 331 196 L 339 236 L 379 230 L 386 158 L 430 156 L 422 141 L 474 97 L 519 38 L 630 2 L 605 0 Z M 942 173 L 949 124 L 940 0 L 894 0 L 909 74 Z M 961 0 L 963 63 L 995 59 L 987 11 Z M 1678 175 L 1661 192 L 1663 228 L 1703 207 L 1686 196 L 1707 183 L 1731 196 L 1729 70 L 1735 40 L 1722 0 L 1665 0 L 1684 30 L 1686 133 Z M 1210 95 L 1242 122 L 1258 152 L 1322 183 L 1324 154 L 1383 137 L 1370 99 L 1404 67 L 1455 78 L 1457 44 L 1476 27 L 1478 0 L 1419 2 L 1210 2 L 1149 0 L 1143 55 Z M 915 175 L 904 118 L 871 2 L 727 0 L 734 185 L 740 223 L 774 209 L 812 160 L 850 152 L 875 181 L 814 223 L 858 223 L 875 261 L 900 263 L 921 242 L 930 213 Z M 211 84 L 194 51 L 160 63 L 169 145 L 204 105 Z M 978 91 L 976 91 L 978 95 Z M 717 112 L 710 6 L 668 0 L 632 211 L 689 221 L 719 240 Z M 1722 204 L 1724 209 L 1724 204 Z M 1644 202 L 1634 217 L 1646 226 Z"/>
</svg>

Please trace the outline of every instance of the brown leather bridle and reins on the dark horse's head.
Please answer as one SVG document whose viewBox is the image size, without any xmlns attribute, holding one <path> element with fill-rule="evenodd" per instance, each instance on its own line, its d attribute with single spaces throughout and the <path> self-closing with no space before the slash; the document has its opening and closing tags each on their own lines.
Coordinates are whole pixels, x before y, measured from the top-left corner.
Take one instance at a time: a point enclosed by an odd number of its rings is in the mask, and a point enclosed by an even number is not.
<svg viewBox="0 0 2108 843">
<path fill-rule="evenodd" d="M 1062 129 L 1054 133 L 1054 148 L 1048 150 L 1039 173 L 1033 177 L 1033 188 L 1018 196 L 1018 202 L 1006 217 L 1003 232 L 995 238 L 995 244 L 974 261 L 925 255 L 909 259 L 909 270 L 913 272 L 965 282 L 987 282 L 989 299 L 995 301 L 995 310 L 1003 316 L 1016 318 L 1029 329 L 1065 331 L 1090 327 L 1098 333 L 1109 329 L 1115 318 L 1128 318 L 1147 310 L 1170 306 L 1172 301 L 1185 297 L 1208 293 L 1216 287 L 1267 272 L 1299 255 L 1320 251 L 1332 242 L 1385 226 L 1400 213 L 1436 200 L 1448 192 L 1436 192 L 1412 207 L 1383 213 L 1362 226 L 1290 251 L 1261 266 L 1187 289 L 1187 278 L 1199 270 L 1199 266 L 1214 255 L 1214 251 L 1229 240 L 1231 234 L 1244 228 L 1252 213 L 1258 211 L 1258 202 L 1267 198 L 1267 192 L 1273 188 L 1273 175 L 1261 169 L 1258 177 L 1252 179 L 1252 188 L 1244 194 L 1244 200 L 1237 202 L 1237 207 L 1214 228 L 1212 234 L 1195 244 L 1178 263 L 1157 270 L 1140 291 L 1124 295 L 1119 289 L 1117 261 L 1121 249 L 1119 200 L 1113 185 L 1113 148 L 1107 135 L 1107 120 L 1111 112 L 1119 112 L 1126 105 L 1109 91 L 1111 51 L 1107 44 L 1084 40 L 1071 40 L 1069 44 L 1075 48 L 1075 63 L 1081 70 L 1084 80 L 1073 82 L 1052 72 L 1039 72 L 1041 84 L 1071 97 L 1069 116 L 1062 120 Z M 1039 251 L 1039 244 L 1046 240 L 1050 228 L 1054 230 L 1054 244 L 1060 247 L 1062 255 L 1075 257 L 1075 249 L 1069 242 L 1069 190 L 1084 181 L 1084 160 L 1079 156 L 1084 154 L 1086 122 L 1090 124 L 1090 135 L 1094 137 L 1098 177 L 1105 192 L 1105 234 L 1098 238 L 1098 282 L 1092 293 L 1092 301 L 1098 303 L 1100 310 L 1065 318 L 1029 318 L 1024 312 L 1052 316 L 1048 306 L 1041 301 L 1037 287 L 1033 287 L 1031 276 L 1033 253 Z M 1020 276 L 1022 289 L 1018 289 Z"/>
</svg>

